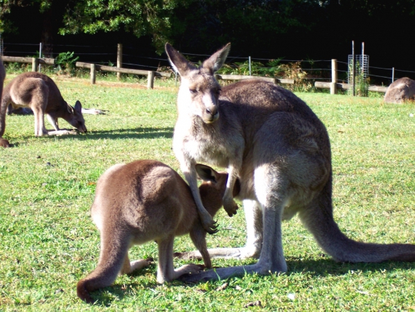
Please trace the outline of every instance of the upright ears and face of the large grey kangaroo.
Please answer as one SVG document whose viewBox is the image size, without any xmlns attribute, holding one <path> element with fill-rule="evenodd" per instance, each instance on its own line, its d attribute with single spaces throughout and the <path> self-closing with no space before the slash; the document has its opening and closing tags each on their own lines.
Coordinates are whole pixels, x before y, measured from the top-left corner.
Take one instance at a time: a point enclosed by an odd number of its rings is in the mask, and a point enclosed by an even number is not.
<svg viewBox="0 0 415 312">
<path fill-rule="evenodd" d="M 219 118 L 220 85 L 214 73 L 222 67 L 230 49 L 231 44 L 227 44 L 213 53 L 200 67 L 196 67 L 173 49 L 173 46 L 166 44 L 170 63 L 182 77 L 177 103 L 183 105 L 183 109 L 187 112 L 199 116 L 204 123 L 213 123 Z"/>
</svg>

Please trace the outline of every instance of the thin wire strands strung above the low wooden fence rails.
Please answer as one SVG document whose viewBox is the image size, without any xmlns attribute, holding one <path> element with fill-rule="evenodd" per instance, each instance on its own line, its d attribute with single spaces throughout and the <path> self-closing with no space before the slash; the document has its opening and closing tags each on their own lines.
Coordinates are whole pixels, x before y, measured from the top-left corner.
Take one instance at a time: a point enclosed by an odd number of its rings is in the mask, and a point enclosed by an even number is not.
<svg viewBox="0 0 415 312">
<path fill-rule="evenodd" d="M 1 39 L 1 38 L 0 38 Z M 53 46 L 43 45 L 43 49 L 39 44 L 21 44 L 8 43 L 0 40 L 0 47 L 3 55 L 8 56 L 29 56 L 39 57 L 39 51 L 49 58 L 56 58 L 60 53 L 74 52 L 75 56 L 79 56 L 82 62 L 93 62 L 95 64 L 108 64 L 114 66 L 117 60 L 116 46 L 109 45 L 62 45 L 55 44 Z M 53 49 L 52 49 L 53 48 Z M 126 52 L 126 53 L 124 53 Z M 192 62 L 201 62 L 210 55 L 186 53 L 181 51 L 186 58 Z M 42 56 L 44 56 L 42 55 Z M 345 55 L 345 59 L 347 59 Z M 132 67 L 133 69 L 157 70 L 161 67 L 170 67 L 170 63 L 166 57 L 154 56 L 154 51 L 150 47 L 123 46 L 123 67 Z M 270 62 L 272 62 L 270 64 Z M 248 64 L 249 68 L 256 71 L 272 73 L 272 69 L 276 64 L 299 63 L 301 71 L 307 75 L 304 80 L 330 80 L 331 78 L 331 60 L 290 60 L 285 58 L 251 58 L 249 56 L 233 56 L 227 58 L 227 66 L 231 69 L 237 69 L 241 64 Z M 342 60 L 337 61 L 338 83 L 346 83 L 348 77 L 348 62 Z M 369 66 L 369 80 L 373 83 L 389 85 L 393 80 L 402 77 L 409 77 L 415 80 L 415 71 L 405 69 L 372 67 Z M 275 76 L 274 78 L 283 78 Z"/>
</svg>

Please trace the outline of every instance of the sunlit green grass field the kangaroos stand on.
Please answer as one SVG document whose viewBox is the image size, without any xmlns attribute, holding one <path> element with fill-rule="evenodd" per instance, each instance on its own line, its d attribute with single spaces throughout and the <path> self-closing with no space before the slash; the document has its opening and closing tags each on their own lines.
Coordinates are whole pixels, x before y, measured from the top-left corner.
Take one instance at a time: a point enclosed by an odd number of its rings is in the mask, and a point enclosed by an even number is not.
<svg viewBox="0 0 415 312">
<path fill-rule="evenodd" d="M 87 135 L 62 137 L 34 137 L 33 116 L 6 117 L 4 137 L 14 147 L 0 148 L 0 311 L 415 310 L 414 263 L 335 263 L 298 218 L 283 225 L 286 274 L 158 285 L 154 264 L 93 293 L 93 308 L 81 302 L 76 283 L 95 268 L 99 252 L 89 215 L 96 180 L 112 164 L 134 159 L 159 159 L 178 169 L 171 150 L 177 88 L 53 78 L 68 103 L 79 99 L 109 112 L 85 116 Z M 330 134 L 335 219 L 342 231 L 360 241 L 415 243 L 415 105 L 297 95 Z M 220 211 L 217 218 L 220 232 L 207 237 L 210 247 L 245 243 L 242 213 L 229 218 Z M 193 245 L 184 236 L 175 250 Z M 130 254 L 157 261 L 157 245 Z M 184 263 L 175 260 L 175 266 Z M 218 267 L 249 263 L 213 259 Z"/>
</svg>

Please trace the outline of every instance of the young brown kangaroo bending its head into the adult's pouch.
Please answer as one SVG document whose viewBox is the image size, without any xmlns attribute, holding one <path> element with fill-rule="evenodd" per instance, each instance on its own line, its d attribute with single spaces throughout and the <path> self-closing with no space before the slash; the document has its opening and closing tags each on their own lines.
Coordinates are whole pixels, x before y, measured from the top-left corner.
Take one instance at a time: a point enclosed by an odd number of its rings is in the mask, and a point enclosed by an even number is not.
<svg viewBox="0 0 415 312">
<path fill-rule="evenodd" d="M 209 214 L 214 216 L 222 207 L 227 173 L 197 164 L 197 174 L 204 180 L 200 196 Z M 236 183 L 235 195 L 239 191 Z M 172 168 L 155 160 L 138 160 L 130 164 L 116 164 L 99 178 L 91 216 L 100 230 L 98 266 L 78 282 L 78 297 L 94 302 L 90 291 L 110 286 L 118 272 L 130 273 L 150 264 L 148 260 L 130 262 L 128 250 L 132 245 L 156 241 L 159 245 L 157 282 L 171 281 L 200 266 L 187 264 L 173 267 L 175 236 L 190 233 L 200 250 L 204 265 L 211 268 L 206 248 L 206 232 L 200 224 L 191 191 Z"/>
</svg>

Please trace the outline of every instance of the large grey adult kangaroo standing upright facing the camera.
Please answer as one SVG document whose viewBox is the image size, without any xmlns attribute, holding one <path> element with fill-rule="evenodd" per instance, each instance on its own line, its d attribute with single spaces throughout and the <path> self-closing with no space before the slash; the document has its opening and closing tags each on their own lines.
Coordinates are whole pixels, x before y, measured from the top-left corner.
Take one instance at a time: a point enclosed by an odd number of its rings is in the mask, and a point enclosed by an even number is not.
<svg viewBox="0 0 415 312">
<path fill-rule="evenodd" d="M 220 87 L 214 73 L 229 49 L 227 44 L 196 67 L 166 44 L 168 58 L 182 78 L 173 150 L 208 232 L 215 231 L 215 223 L 197 192 L 196 162 L 228 168 L 223 202 L 229 216 L 236 213 L 231 189 L 240 179 L 236 198 L 243 200 L 247 244 L 209 250 L 210 256 L 259 260 L 250 266 L 200 272 L 188 280 L 287 271 L 281 220 L 295 214 L 337 261 L 415 261 L 415 245 L 360 243 L 340 232 L 333 219 L 330 141 L 324 124 L 300 98 L 272 83 L 242 80 Z"/>
</svg>

